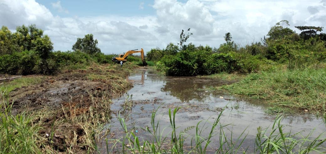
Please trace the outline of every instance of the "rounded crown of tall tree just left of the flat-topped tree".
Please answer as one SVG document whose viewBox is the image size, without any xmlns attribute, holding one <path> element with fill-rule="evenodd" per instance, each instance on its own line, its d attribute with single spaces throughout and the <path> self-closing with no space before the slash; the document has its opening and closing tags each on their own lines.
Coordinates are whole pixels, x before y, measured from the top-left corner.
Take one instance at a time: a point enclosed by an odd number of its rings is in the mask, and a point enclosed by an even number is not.
<svg viewBox="0 0 326 154">
<path fill-rule="evenodd" d="M 275 26 L 273 26 L 268 32 L 268 39 L 277 40 L 284 38 L 286 35 L 294 34 L 294 31 L 292 31 L 290 28 L 284 28 L 283 26 L 289 26 L 289 21 L 282 20 L 280 22 L 277 22 Z"/>
</svg>

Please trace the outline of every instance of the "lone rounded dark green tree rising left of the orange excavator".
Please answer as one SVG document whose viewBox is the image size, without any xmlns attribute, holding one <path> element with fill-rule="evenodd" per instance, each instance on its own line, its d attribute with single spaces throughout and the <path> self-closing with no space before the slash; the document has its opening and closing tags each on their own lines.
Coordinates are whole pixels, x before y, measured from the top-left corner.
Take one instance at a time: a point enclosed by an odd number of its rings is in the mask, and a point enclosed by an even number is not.
<svg viewBox="0 0 326 154">
<path fill-rule="evenodd" d="M 93 34 L 87 34 L 84 38 L 77 38 L 76 43 L 72 46 L 74 51 L 80 50 L 87 54 L 96 54 L 101 52 L 97 47 L 98 41 L 94 40 Z"/>
</svg>

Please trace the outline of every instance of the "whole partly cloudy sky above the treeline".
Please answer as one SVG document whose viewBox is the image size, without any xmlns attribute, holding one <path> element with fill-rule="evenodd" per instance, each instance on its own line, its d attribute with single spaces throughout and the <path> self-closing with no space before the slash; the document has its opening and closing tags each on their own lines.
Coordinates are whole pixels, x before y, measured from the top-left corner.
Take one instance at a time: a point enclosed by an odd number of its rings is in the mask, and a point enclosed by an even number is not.
<svg viewBox="0 0 326 154">
<path fill-rule="evenodd" d="M 218 48 L 230 32 L 240 46 L 260 41 L 276 22 L 322 26 L 326 0 L 0 0 L 0 26 L 15 32 L 23 24 L 49 35 L 54 50 L 71 50 L 77 38 L 93 34 L 106 54 L 187 43 Z"/>
</svg>

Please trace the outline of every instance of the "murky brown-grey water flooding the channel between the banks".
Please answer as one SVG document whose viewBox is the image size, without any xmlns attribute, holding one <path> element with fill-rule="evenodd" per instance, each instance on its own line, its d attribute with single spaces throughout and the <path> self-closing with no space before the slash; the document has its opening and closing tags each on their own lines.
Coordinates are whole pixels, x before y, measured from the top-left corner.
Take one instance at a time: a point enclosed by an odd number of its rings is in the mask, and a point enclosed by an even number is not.
<svg viewBox="0 0 326 154">
<path fill-rule="evenodd" d="M 118 139 L 123 136 L 123 130 L 117 120 L 119 115 L 126 119 L 129 130 L 134 131 L 143 139 L 151 139 L 150 134 L 141 128 L 151 126 L 151 114 L 157 108 L 156 121 L 160 122 L 161 130 L 166 128 L 163 135 L 169 137 L 171 129 L 168 110 L 175 107 L 181 107 L 175 118 L 176 125 L 179 127 L 178 131 L 196 126 L 200 121 L 202 121 L 200 124 L 202 127 L 207 121 L 205 127 L 209 127 L 202 133 L 202 136 L 206 136 L 211 128 L 209 123 L 212 123 L 221 109 L 225 108 L 220 123 L 222 125 L 230 124 L 224 129 L 226 135 L 231 136 L 230 130 L 232 130 L 234 138 L 243 132 L 245 135 L 247 134 L 242 147 L 249 147 L 248 151 L 250 152 L 254 149 L 257 128 L 259 126 L 271 127 L 275 119 L 275 115 L 264 112 L 268 106 L 263 103 L 247 102 L 224 93 L 207 90 L 211 86 L 229 84 L 225 81 L 198 77 L 165 77 L 146 68 L 138 70 L 128 79 L 134 83 L 134 87 L 124 96 L 112 100 L 113 118 L 108 122 L 111 130 L 108 139 Z M 123 111 L 122 105 L 126 100 L 131 100 L 134 106 L 130 111 L 121 112 Z M 302 132 L 304 135 L 314 131 L 312 137 L 326 130 L 322 119 L 302 111 L 298 111 L 296 115 L 285 116 L 282 124 L 285 125 L 286 131 Z M 219 129 L 217 129 L 218 132 Z M 190 144 L 191 134 L 195 134 L 195 129 L 189 130 L 187 134 L 190 136 L 185 143 Z M 102 153 L 106 153 L 105 142 L 99 143 L 98 146 L 103 147 L 101 148 Z M 218 146 L 218 136 L 213 137 L 211 146 L 212 149 Z M 119 146 L 115 148 L 115 151 L 121 149 Z"/>
</svg>

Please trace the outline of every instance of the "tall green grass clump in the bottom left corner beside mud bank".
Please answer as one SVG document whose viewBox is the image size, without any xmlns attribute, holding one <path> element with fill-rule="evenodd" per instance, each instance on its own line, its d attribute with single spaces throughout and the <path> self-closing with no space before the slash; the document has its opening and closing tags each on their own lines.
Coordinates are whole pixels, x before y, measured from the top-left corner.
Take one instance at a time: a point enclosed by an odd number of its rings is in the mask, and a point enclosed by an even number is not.
<svg viewBox="0 0 326 154">
<path fill-rule="evenodd" d="M 5 101 L 0 105 L 0 153 L 42 153 L 44 138 L 38 135 L 40 127 L 33 124 L 33 116 L 12 115 L 12 104 Z"/>
</svg>

